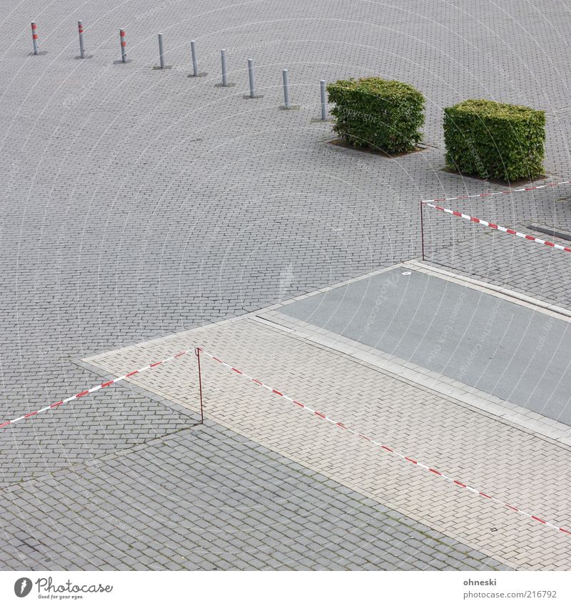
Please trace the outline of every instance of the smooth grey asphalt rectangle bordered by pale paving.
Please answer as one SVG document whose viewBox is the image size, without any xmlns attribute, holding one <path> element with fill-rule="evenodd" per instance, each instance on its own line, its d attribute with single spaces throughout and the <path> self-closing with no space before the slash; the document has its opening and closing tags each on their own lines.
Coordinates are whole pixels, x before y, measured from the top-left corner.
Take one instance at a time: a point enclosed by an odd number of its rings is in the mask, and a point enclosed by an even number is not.
<svg viewBox="0 0 571 606">
<path fill-rule="evenodd" d="M 564 320 L 403 268 L 281 312 L 571 424 Z"/>
</svg>

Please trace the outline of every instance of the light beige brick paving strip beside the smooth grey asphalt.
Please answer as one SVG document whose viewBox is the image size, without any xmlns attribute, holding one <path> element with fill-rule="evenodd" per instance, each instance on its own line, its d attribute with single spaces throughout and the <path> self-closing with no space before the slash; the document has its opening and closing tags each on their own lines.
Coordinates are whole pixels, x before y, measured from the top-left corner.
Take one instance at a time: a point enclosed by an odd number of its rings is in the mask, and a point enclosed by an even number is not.
<svg viewBox="0 0 571 606">
<path fill-rule="evenodd" d="M 478 490 L 571 528 L 571 451 L 327 347 L 242 318 L 86 360 L 123 374 L 193 346 Z M 131 377 L 198 408 L 196 358 Z M 203 359 L 206 417 L 519 569 L 570 570 L 571 535 L 401 462 Z"/>
</svg>

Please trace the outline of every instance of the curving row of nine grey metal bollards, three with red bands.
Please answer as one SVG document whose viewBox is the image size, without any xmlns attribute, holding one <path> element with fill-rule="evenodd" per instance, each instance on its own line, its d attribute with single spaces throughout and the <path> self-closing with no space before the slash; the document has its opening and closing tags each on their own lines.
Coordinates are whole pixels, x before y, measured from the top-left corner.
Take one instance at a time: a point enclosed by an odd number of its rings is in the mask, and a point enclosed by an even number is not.
<svg viewBox="0 0 571 606">
<path fill-rule="evenodd" d="M 77 21 L 77 29 L 79 32 L 79 56 L 76 59 L 91 59 L 93 55 L 86 56 L 85 49 L 85 39 L 84 39 L 84 24 L 83 21 Z M 38 41 L 38 25 L 36 21 L 32 21 L 31 23 L 31 34 L 32 34 L 32 43 L 34 44 L 34 55 L 44 54 L 39 51 L 39 41 Z M 119 44 L 121 45 L 121 61 L 114 61 L 114 63 L 128 63 L 127 59 L 127 43 L 126 43 L 126 34 L 123 28 L 119 29 Z M 222 82 L 221 84 L 216 84 L 216 86 L 222 86 L 224 88 L 235 86 L 235 84 L 228 82 L 228 67 L 226 64 L 226 49 L 222 49 L 220 51 L 221 54 L 221 64 L 222 64 Z M 192 55 L 192 74 L 188 74 L 188 77 L 198 77 L 198 76 L 206 76 L 206 72 L 198 71 L 198 57 L 196 54 L 196 41 L 191 40 L 191 55 Z M 163 34 L 158 34 L 158 66 L 153 67 L 153 69 L 171 69 L 171 65 L 166 65 L 165 61 L 165 52 L 163 46 Z M 283 79 L 283 106 L 282 109 L 299 109 L 298 105 L 292 105 L 290 102 L 290 85 L 288 78 L 288 70 L 282 70 L 282 79 Z M 250 86 L 250 94 L 244 95 L 245 99 L 261 99 L 263 95 L 256 94 L 256 82 L 254 80 L 254 64 L 253 59 L 248 59 L 248 84 Z M 320 80 L 320 97 L 321 97 L 321 121 L 327 120 L 327 99 L 325 96 L 325 80 Z"/>
</svg>

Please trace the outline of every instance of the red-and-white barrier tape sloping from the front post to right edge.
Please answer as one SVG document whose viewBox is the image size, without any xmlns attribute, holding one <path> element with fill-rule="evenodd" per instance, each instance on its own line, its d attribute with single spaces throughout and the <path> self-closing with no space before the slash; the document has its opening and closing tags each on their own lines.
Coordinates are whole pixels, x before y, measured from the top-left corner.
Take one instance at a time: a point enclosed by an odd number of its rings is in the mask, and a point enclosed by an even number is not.
<svg viewBox="0 0 571 606">
<path fill-rule="evenodd" d="M 339 429 L 343 429 L 344 431 L 347 431 L 357 437 L 367 440 L 367 442 L 370 442 L 371 444 L 375 444 L 375 446 L 382 448 L 385 452 L 390 453 L 390 455 L 399 457 L 401 460 L 403 460 L 403 462 L 409 462 L 411 465 L 415 465 L 416 467 L 421 467 L 423 470 L 433 474 L 435 477 L 440 477 L 442 480 L 450 482 L 451 484 L 455 485 L 455 487 L 460 487 L 460 488 L 463 488 L 470 492 L 474 492 L 476 495 L 480 495 L 480 497 L 482 497 L 484 499 L 489 499 L 493 502 L 498 503 L 499 505 L 502 505 L 504 507 L 509 507 L 510 510 L 515 511 L 521 515 L 524 515 L 525 517 L 528 517 L 531 520 L 535 520 L 535 522 L 539 522 L 540 524 L 548 526 L 554 530 L 559 530 L 560 532 L 565 532 L 566 535 L 571 535 L 571 530 L 565 530 L 565 528 L 559 527 L 555 524 L 552 524 L 551 522 L 547 522 L 542 517 L 530 514 L 528 512 L 525 512 L 524 510 L 520 510 L 519 507 L 515 507 L 514 505 L 509 505 L 508 503 L 506 503 L 500 499 L 497 499 L 496 497 L 492 497 L 491 495 L 488 495 L 486 492 L 477 490 L 476 488 L 473 488 L 473 487 L 469 486 L 468 484 L 465 484 L 464 482 L 460 482 L 459 480 L 454 480 L 453 477 L 449 477 L 448 475 L 443 474 L 443 472 L 439 472 L 438 470 L 435 470 L 434 467 L 429 467 L 428 465 L 424 465 L 423 463 L 413 459 L 412 457 L 407 457 L 406 455 L 403 455 L 402 453 L 398 452 L 397 450 L 395 450 L 391 447 L 388 447 L 385 444 L 381 444 L 380 442 L 377 442 L 376 440 L 374 440 L 370 437 L 367 437 L 358 431 L 355 431 L 355 429 L 351 429 L 347 425 L 345 425 L 339 421 L 335 421 L 335 419 L 331 419 L 326 414 L 323 414 L 323 412 L 319 412 L 318 410 L 314 410 L 313 408 L 310 408 L 307 405 L 302 404 L 301 402 L 298 402 L 296 399 L 293 399 L 293 397 L 290 397 L 287 394 L 278 391 L 278 389 L 274 389 L 273 387 L 266 385 L 266 383 L 263 383 L 262 381 L 260 381 L 258 379 L 254 379 L 249 374 L 242 372 L 241 370 L 237 369 L 236 367 L 233 367 L 231 364 L 227 364 L 226 362 L 223 362 L 223 360 L 221 360 L 220 358 L 213 356 L 212 354 L 209 354 L 208 352 L 205 352 L 203 349 L 201 349 L 201 352 L 203 354 L 207 355 L 208 357 L 211 357 L 215 362 L 223 364 L 223 366 L 227 367 L 232 372 L 239 374 L 241 377 L 244 377 L 245 379 L 249 379 L 251 382 L 255 383 L 256 385 L 260 385 L 261 387 L 268 389 L 269 392 L 276 394 L 278 397 L 283 397 L 284 399 L 288 400 L 288 402 L 292 402 L 292 404 L 295 404 L 297 407 L 314 414 L 319 419 L 322 419 L 323 421 L 328 421 L 328 422 L 330 422 L 330 424 L 332 424 L 335 427 L 338 427 Z"/>
</svg>

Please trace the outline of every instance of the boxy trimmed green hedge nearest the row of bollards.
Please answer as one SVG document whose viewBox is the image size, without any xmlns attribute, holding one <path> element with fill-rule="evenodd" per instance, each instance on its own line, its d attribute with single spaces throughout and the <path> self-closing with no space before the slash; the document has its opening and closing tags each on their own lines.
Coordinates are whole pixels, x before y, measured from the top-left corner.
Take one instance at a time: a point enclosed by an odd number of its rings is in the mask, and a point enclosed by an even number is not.
<svg viewBox="0 0 571 606">
<path fill-rule="evenodd" d="M 338 80 L 327 87 L 333 130 L 354 147 L 410 152 L 422 139 L 424 97 L 410 84 L 380 78 Z"/>
</svg>

